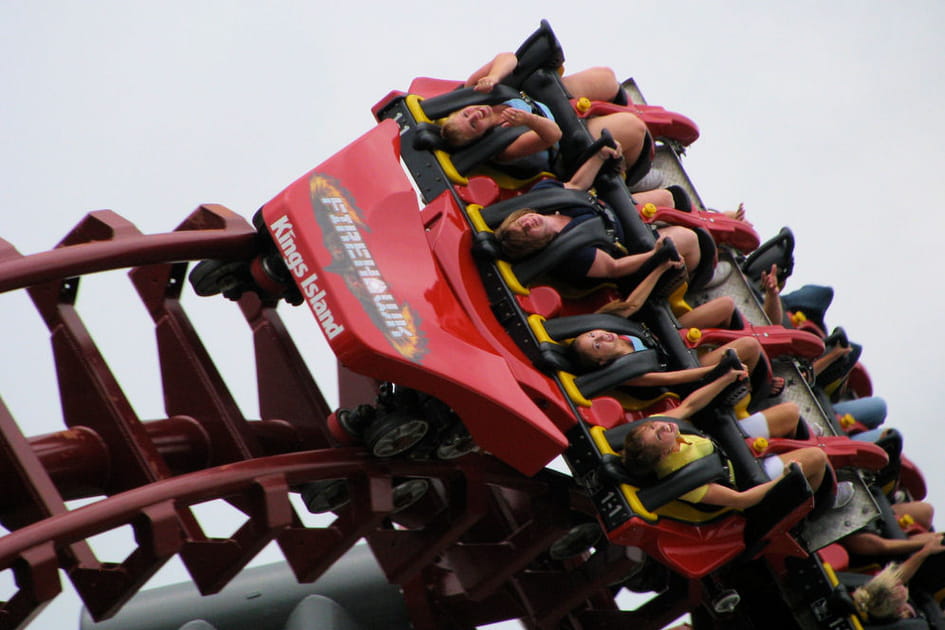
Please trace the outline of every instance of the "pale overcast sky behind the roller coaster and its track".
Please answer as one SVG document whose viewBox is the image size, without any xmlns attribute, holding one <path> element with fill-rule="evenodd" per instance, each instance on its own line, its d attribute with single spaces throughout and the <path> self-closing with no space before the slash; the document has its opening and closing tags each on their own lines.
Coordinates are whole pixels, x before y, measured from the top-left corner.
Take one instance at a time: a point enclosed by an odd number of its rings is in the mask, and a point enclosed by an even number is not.
<svg viewBox="0 0 945 630">
<path fill-rule="evenodd" d="M 143 232 L 169 231 L 206 202 L 248 218 L 370 128 L 388 91 L 419 75 L 463 78 L 545 17 L 567 69 L 610 65 L 700 125 L 684 164 L 707 203 L 744 201 L 763 237 L 794 230 L 789 288 L 835 287 L 827 322 L 865 346 L 888 422 L 941 505 L 945 4 L 531 4 L 7 0 L 0 237 L 43 251 L 102 208 Z M 132 295 L 123 276 L 95 278 L 79 308 L 138 414 L 157 418 L 149 323 Z M 0 304 L 0 397 L 27 435 L 57 430 L 44 328 L 25 296 Z M 252 417 L 236 309 L 193 296 L 185 306 Z M 319 333 L 305 313 L 287 317 L 333 397 Z M 77 604 L 60 599 L 35 627 L 71 627 Z"/>
</svg>

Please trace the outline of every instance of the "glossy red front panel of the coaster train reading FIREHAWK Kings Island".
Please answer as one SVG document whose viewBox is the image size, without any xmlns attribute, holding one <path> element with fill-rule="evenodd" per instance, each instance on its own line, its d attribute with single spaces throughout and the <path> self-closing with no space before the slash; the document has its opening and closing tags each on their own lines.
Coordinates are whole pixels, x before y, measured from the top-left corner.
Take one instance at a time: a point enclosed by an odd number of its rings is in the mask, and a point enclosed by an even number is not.
<svg viewBox="0 0 945 630">
<path fill-rule="evenodd" d="M 534 474 L 567 439 L 440 273 L 399 146 L 382 122 L 266 204 L 266 226 L 339 361 L 437 396 L 480 447 Z"/>
</svg>

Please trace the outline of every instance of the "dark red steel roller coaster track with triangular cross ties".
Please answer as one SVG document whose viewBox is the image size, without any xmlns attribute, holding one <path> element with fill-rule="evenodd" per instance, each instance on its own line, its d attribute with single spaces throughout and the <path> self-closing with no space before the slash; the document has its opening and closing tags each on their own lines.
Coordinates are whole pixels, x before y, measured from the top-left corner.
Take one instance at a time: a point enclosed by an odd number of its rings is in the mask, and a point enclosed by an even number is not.
<svg viewBox="0 0 945 630">
<path fill-rule="evenodd" d="M 300 582 L 367 541 L 419 630 L 512 618 L 528 628 L 656 628 L 697 605 L 698 587 L 670 578 L 647 604 L 619 610 L 612 585 L 639 558 L 606 541 L 592 555 L 551 559 L 549 546 L 575 517 L 594 514 L 566 475 L 528 478 L 479 453 L 381 460 L 340 447 L 326 425 L 331 410 L 276 305 L 255 295 L 239 307 L 253 335 L 260 417 L 244 417 L 180 296 L 187 261 L 247 257 L 255 234 L 230 210 L 205 205 L 165 234 L 142 234 L 100 211 L 49 252 L 23 256 L 0 241 L 0 291 L 25 289 L 49 329 L 65 425 L 26 436 L 0 403 L 0 519 L 10 532 L 0 537 L 0 570 L 16 583 L 0 606 L 0 627 L 28 626 L 62 591 L 60 570 L 100 620 L 174 556 L 208 595 L 272 541 Z M 75 306 L 81 276 L 124 268 L 154 322 L 163 419 L 137 417 Z M 392 487 L 405 478 L 424 479 L 430 490 L 397 506 Z M 330 479 L 344 480 L 347 504 L 329 524 L 306 526 L 290 495 Z M 66 505 L 90 497 L 102 498 Z M 229 537 L 208 536 L 193 512 L 213 500 L 246 516 Z M 89 539 L 129 526 L 136 548 L 121 562 L 99 560 Z"/>
</svg>

